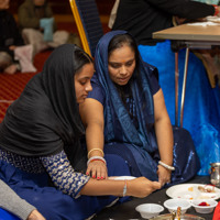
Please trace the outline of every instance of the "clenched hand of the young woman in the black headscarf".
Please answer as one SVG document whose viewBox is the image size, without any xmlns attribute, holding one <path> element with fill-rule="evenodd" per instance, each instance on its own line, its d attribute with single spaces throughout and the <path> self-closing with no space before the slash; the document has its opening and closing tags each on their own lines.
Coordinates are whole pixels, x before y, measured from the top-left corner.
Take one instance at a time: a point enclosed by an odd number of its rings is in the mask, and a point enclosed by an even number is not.
<svg viewBox="0 0 220 220">
<path fill-rule="evenodd" d="M 151 182 L 145 177 L 139 177 L 127 182 L 127 196 L 144 198 L 161 188 L 162 185 L 158 182 Z"/>
</svg>

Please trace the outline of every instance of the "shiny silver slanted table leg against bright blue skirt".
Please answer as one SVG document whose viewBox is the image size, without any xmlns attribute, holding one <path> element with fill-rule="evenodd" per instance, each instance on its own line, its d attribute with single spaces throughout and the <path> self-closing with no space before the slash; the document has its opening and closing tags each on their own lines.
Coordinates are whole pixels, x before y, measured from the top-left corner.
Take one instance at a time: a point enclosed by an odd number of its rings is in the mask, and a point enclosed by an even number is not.
<svg viewBox="0 0 220 220">
<path fill-rule="evenodd" d="M 182 88 L 182 106 L 180 106 L 180 127 L 183 128 L 184 120 L 184 103 L 185 103 L 185 92 L 186 92 L 186 79 L 188 72 L 188 59 L 189 59 L 189 47 L 186 47 L 185 67 L 184 67 L 184 81 Z"/>
</svg>

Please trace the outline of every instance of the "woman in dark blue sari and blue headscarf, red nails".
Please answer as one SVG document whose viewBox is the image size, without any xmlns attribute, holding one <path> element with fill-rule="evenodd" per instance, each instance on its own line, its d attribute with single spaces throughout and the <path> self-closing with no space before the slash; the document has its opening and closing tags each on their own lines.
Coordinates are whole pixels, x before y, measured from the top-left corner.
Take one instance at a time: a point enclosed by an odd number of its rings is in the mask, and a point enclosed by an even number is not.
<svg viewBox="0 0 220 220">
<path fill-rule="evenodd" d="M 157 69 L 142 61 L 132 36 L 124 31 L 106 34 L 95 62 L 94 89 L 79 107 L 88 156 L 101 155 L 103 148 L 106 155 L 122 157 L 132 176 L 162 185 L 191 178 L 198 170 L 194 144 L 177 141 L 176 131 L 173 136 Z M 101 162 L 89 164 L 87 173 L 108 175 Z"/>
</svg>

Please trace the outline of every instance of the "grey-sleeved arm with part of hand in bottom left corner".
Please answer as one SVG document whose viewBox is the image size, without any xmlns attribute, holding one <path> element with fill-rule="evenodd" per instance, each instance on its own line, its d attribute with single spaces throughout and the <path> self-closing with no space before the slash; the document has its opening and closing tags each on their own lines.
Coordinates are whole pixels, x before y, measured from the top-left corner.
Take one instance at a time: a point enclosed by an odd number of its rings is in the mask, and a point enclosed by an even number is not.
<svg viewBox="0 0 220 220">
<path fill-rule="evenodd" d="M 45 220 L 35 207 L 21 199 L 6 183 L 0 179 L 0 207 L 21 220 Z M 0 210 L 1 213 L 1 210 Z M 11 216 L 11 215 L 10 215 Z M 1 219 L 3 216 L 1 215 Z M 12 217 L 11 217 L 12 218 Z M 14 217 L 14 219 L 18 219 Z"/>
</svg>

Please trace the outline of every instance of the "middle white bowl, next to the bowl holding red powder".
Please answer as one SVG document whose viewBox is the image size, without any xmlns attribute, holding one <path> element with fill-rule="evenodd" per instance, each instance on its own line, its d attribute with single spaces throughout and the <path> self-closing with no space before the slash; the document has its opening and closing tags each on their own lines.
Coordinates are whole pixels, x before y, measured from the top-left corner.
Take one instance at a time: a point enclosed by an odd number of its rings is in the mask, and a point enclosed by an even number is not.
<svg viewBox="0 0 220 220">
<path fill-rule="evenodd" d="M 191 207 L 190 201 L 187 199 L 168 199 L 164 202 L 164 207 L 168 209 L 172 213 L 173 211 L 177 211 L 177 208 L 182 208 L 182 213 L 186 213 L 187 209 Z"/>
</svg>

